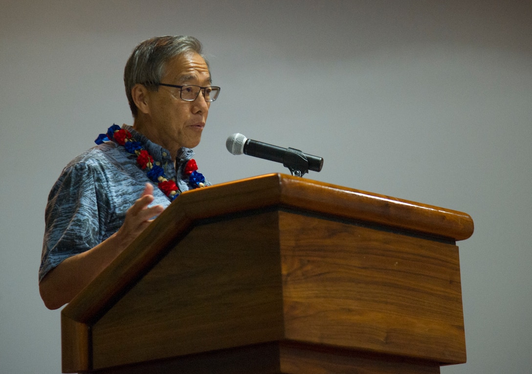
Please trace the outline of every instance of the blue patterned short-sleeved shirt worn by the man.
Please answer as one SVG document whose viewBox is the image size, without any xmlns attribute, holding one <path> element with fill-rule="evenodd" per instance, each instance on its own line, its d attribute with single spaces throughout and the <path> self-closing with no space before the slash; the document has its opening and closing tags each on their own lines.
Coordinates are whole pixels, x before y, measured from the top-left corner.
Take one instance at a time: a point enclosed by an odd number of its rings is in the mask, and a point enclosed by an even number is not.
<svg viewBox="0 0 532 374">
<path fill-rule="evenodd" d="M 194 155 L 192 149 L 179 149 L 176 172 L 167 149 L 130 126 L 123 128 L 144 146 L 181 191 L 192 188 L 180 177 Z M 66 258 L 90 250 L 117 232 L 126 211 L 140 197 L 147 182 L 151 183 L 146 171 L 138 166 L 136 156 L 114 142 L 90 148 L 72 160 L 48 196 L 39 282 Z M 151 205 L 170 204 L 170 199 L 156 186 L 153 196 Z"/>
</svg>

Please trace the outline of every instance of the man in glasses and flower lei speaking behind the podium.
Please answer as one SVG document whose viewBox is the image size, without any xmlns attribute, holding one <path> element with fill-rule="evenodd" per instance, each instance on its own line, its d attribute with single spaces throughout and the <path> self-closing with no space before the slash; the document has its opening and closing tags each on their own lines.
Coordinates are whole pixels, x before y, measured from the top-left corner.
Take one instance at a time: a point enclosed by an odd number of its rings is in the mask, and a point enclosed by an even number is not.
<svg viewBox="0 0 532 374">
<path fill-rule="evenodd" d="M 100 135 L 48 197 L 39 291 L 49 309 L 70 302 L 180 192 L 209 184 L 190 148 L 200 143 L 220 88 L 211 87 L 200 42 L 143 41 L 129 57 L 124 84 L 133 126 Z"/>
</svg>

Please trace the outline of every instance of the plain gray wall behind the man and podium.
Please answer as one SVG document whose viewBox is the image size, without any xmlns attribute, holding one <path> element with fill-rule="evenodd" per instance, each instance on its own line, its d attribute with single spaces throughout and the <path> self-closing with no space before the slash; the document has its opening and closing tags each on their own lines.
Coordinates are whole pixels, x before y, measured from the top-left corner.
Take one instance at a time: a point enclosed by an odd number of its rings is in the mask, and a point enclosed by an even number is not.
<svg viewBox="0 0 532 374">
<path fill-rule="evenodd" d="M 7 4 L 6 4 L 7 3 Z M 196 160 L 213 182 L 281 164 L 234 132 L 325 159 L 306 178 L 471 214 L 460 242 L 468 363 L 532 367 L 532 2 L 4 1 L 0 6 L 0 372 L 60 372 L 40 301 L 44 207 L 73 156 L 132 123 L 131 49 L 194 35 L 215 84 Z"/>
</svg>

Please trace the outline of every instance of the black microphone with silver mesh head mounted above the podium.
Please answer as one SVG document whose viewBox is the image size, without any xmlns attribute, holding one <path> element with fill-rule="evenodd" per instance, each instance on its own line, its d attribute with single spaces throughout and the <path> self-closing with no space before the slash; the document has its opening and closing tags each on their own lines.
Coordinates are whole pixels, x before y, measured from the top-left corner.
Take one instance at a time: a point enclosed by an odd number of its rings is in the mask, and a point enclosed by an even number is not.
<svg viewBox="0 0 532 374">
<path fill-rule="evenodd" d="M 235 155 L 244 153 L 260 159 L 280 162 L 293 173 L 294 170 L 300 171 L 301 175 L 309 170 L 320 171 L 323 167 L 323 159 L 321 157 L 305 154 L 299 149 L 282 148 L 257 142 L 238 133 L 227 138 L 226 147 L 230 153 Z"/>
</svg>

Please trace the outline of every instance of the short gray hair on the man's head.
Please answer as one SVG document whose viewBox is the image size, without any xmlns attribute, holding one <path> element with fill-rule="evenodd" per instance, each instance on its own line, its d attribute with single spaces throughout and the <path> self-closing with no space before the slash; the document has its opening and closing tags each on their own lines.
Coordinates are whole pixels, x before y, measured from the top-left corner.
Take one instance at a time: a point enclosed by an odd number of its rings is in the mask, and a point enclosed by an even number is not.
<svg viewBox="0 0 532 374">
<path fill-rule="evenodd" d="M 157 90 L 167 62 L 186 52 L 200 54 L 209 67 L 209 62 L 202 54 L 200 40 L 192 36 L 159 36 L 144 40 L 135 47 L 124 69 L 126 96 L 133 117 L 137 117 L 138 110 L 131 89 L 136 84 L 142 84 L 148 89 Z"/>
</svg>

